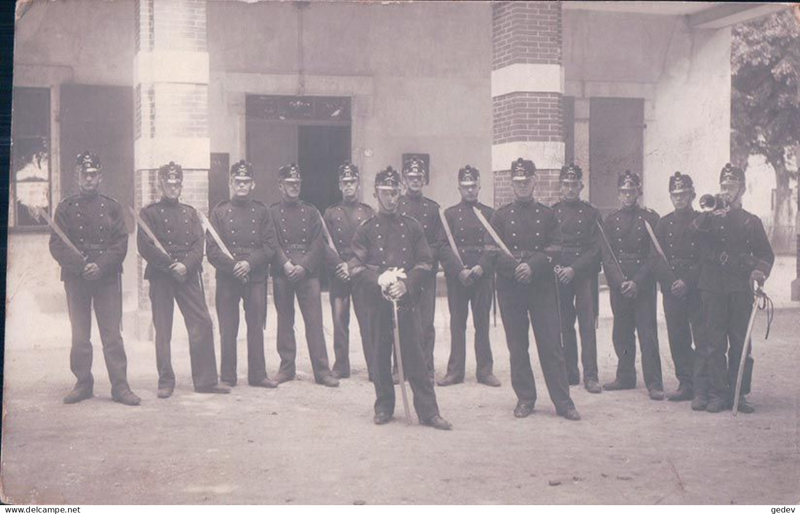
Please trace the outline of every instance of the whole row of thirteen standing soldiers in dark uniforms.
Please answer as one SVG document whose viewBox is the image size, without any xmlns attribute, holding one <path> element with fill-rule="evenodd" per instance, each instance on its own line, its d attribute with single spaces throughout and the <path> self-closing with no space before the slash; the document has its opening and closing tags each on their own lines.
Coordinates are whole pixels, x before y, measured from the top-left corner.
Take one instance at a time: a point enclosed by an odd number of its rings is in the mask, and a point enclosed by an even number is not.
<svg viewBox="0 0 800 514">
<path fill-rule="evenodd" d="M 93 395 L 90 309 L 98 319 L 112 397 L 135 405 L 139 398 L 126 379 L 126 356 L 120 335 L 120 274 L 127 232 L 122 207 L 98 192 L 102 167 L 97 155 L 78 155 L 80 192 L 55 214 L 50 251 L 62 265 L 70 321 L 70 367 L 78 382 L 64 399 L 76 403 Z M 194 388 L 225 393 L 237 383 L 236 339 L 239 303 L 247 326 L 247 379 L 251 386 L 275 388 L 294 379 L 294 297 L 306 327 L 314 379 L 329 387 L 350 376 L 349 324 L 352 300 L 362 336 L 369 379 L 374 382 L 376 424 L 394 413 L 392 340 L 399 330 L 402 363 L 414 392 L 422 424 L 449 429 L 439 416 L 434 384 L 434 310 L 436 273 L 445 271 L 450 310 L 451 348 L 439 386 L 461 383 L 466 375 L 466 321 L 475 328 L 476 375 L 497 387 L 489 340 L 490 310 L 496 284 L 498 304 L 510 351 L 511 382 L 518 402 L 514 416 L 533 412 L 537 399 L 530 365 L 529 331 L 533 325 L 539 361 L 550 399 L 559 416 L 579 420 L 569 386 L 580 381 L 578 320 L 583 382 L 589 392 L 636 387 L 635 334 L 642 349 L 646 388 L 662 400 L 661 360 L 656 327 L 656 283 L 661 283 L 670 350 L 678 377 L 670 400 L 693 400 L 695 410 L 730 408 L 736 369 L 752 308 L 751 280 L 763 283 L 774 261 L 758 217 L 743 211 L 744 174 L 726 165 L 720 175 L 726 208 L 698 213 L 688 175 L 670 177 L 675 211 L 663 219 L 639 207 L 641 182 L 626 171 L 619 176 L 621 208 L 602 220 L 580 199 L 580 167 L 563 167 L 562 200 L 547 207 L 534 200 L 534 163 L 517 159 L 510 167 L 514 201 L 494 211 L 478 202 L 480 173 L 458 171 L 462 201 L 441 211 L 422 194 L 429 180 L 424 162 L 410 159 L 402 176 L 391 167 L 374 184 L 378 212 L 358 201 L 358 168 L 339 167 L 342 203 L 324 215 L 299 199 L 302 177 L 294 164 L 278 172 L 282 199 L 270 207 L 252 198 L 255 187 L 249 163 L 230 172 L 230 200 L 218 204 L 210 220 L 179 202 L 182 168 L 169 163 L 158 171 L 162 198 L 139 212 L 138 251 L 147 262 L 155 329 L 158 397 L 175 387 L 170 359 L 174 303 L 189 335 Z M 406 193 L 401 195 L 402 184 Z M 62 237 L 63 236 L 63 237 Z M 66 238 L 66 239 L 65 239 Z M 222 359 L 217 374 L 213 327 L 202 291 L 205 253 L 216 268 L 216 309 Z M 663 250 L 662 250 L 663 248 Z M 657 251 L 658 250 L 658 251 Z M 616 377 L 602 388 L 598 381 L 598 273 L 610 287 L 614 312 Z M 319 275 L 329 270 L 334 321 L 331 368 L 322 327 Z M 281 362 L 272 378 L 266 373 L 263 330 L 266 327 L 266 275 L 273 279 L 277 345 Z M 387 272 L 399 279 L 386 284 Z M 399 273 L 399 275 L 397 275 Z M 393 303 L 398 304 L 395 322 Z M 744 322 L 742 322 L 744 320 Z M 397 363 L 395 363 L 397 366 Z M 742 395 L 750 391 L 748 357 Z M 219 379 L 218 379 L 219 377 Z M 748 412 L 750 404 L 739 402 Z"/>
</svg>

